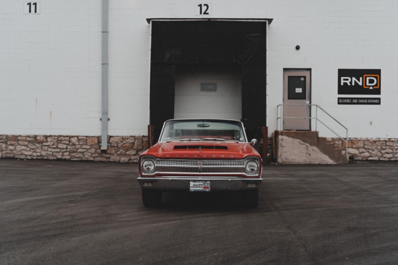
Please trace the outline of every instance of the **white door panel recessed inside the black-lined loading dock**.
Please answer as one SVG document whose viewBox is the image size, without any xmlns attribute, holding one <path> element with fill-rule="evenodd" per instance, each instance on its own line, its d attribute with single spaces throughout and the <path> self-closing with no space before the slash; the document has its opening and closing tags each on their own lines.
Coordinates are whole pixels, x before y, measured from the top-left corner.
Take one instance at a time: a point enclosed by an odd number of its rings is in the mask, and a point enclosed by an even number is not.
<svg viewBox="0 0 398 265">
<path fill-rule="evenodd" d="M 174 118 L 240 120 L 241 75 L 240 64 L 177 64 Z M 201 83 L 215 83 L 217 91 L 201 92 Z"/>
</svg>

